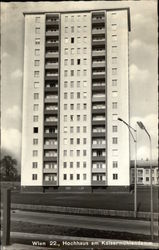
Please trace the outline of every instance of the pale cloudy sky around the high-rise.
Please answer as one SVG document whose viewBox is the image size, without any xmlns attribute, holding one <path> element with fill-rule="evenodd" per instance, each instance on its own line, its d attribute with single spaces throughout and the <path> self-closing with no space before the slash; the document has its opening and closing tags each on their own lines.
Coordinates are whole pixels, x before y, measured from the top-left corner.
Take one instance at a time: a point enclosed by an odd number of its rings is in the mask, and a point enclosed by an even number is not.
<svg viewBox="0 0 159 250">
<path fill-rule="evenodd" d="M 142 121 L 152 137 L 152 157 L 158 158 L 158 34 L 157 1 L 75 1 L 1 3 L 2 149 L 21 157 L 24 16 L 23 12 L 74 11 L 130 7 L 130 125 Z M 127 128 L 125 128 L 127 129 Z M 137 128 L 137 158 L 149 158 L 149 140 Z M 131 140 L 131 159 L 134 143 Z"/>
</svg>

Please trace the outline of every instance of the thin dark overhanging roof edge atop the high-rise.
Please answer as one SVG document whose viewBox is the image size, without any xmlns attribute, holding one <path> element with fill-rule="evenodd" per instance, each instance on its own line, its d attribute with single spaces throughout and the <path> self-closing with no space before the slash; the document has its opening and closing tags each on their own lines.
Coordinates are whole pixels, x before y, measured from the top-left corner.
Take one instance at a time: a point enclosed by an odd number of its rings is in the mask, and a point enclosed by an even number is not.
<svg viewBox="0 0 159 250">
<path fill-rule="evenodd" d="M 40 12 L 28 12 L 24 11 L 24 15 L 40 15 L 40 14 L 51 14 L 51 13 L 60 13 L 60 14 L 66 14 L 66 13 L 80 13 L 80 12 L 92 12 L 92 11 L 121 11 L 121 10 L 127 10 L 128 12 L 128 30 L 131 31 L 131 20 L 130 20 L 130 8 L 125 7 L 125 8 L 110 8 L 110 9 L 92 9 L 92 10 L 76 10 L 76 11 L 40 11 Z"/>
</svg>

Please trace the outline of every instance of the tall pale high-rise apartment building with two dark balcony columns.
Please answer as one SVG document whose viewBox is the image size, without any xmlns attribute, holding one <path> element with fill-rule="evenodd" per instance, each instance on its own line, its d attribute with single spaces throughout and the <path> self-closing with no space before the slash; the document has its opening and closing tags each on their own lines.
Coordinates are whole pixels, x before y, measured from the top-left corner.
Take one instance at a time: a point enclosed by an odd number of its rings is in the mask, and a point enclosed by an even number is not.
<svg viewBox="0 0 159 250">
<path fill-rule="evenodd" d="M 129 186 L 129 9 L 24 16 L 22 187 Z"/>
</svg>

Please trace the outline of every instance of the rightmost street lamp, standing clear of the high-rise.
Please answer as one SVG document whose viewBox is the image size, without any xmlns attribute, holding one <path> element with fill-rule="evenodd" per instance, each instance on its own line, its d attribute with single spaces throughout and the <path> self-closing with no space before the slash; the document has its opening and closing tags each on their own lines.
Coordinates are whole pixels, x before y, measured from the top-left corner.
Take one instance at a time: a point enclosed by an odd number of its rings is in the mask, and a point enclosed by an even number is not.
<svg viewBox="0 0 159 250">
<path fill-rule="evenodd" d="M 150 197 L 150 210 L 151 210 L 151 239 L 153 240 L 153 188 L 152 188 L 152 142 L 151 142 L 151 136 L 148 133 L 147 129 L 145 128 L 144 124 L 141 121 L 137 122 L 138 126 L 145 130 L 146 134 L 148 135 L 149 142 L 150 142 L 150 186 L 151 186 L 151 197 Z"/>
</svg>

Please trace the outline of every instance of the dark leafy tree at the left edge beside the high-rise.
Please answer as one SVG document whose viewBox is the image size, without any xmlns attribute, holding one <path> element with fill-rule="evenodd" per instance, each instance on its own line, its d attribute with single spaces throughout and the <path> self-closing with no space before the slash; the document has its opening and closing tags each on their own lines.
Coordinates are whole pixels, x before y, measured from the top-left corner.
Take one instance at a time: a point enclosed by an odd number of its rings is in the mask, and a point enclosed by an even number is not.
<svg viewBox="0 0 159 250">
<path fill-rule="evenodd" d="M 15 181 L 18 177 L 17 160 L 10 155 L 5 155 L 1 160 L 1 180 Z"/>
</svg>

